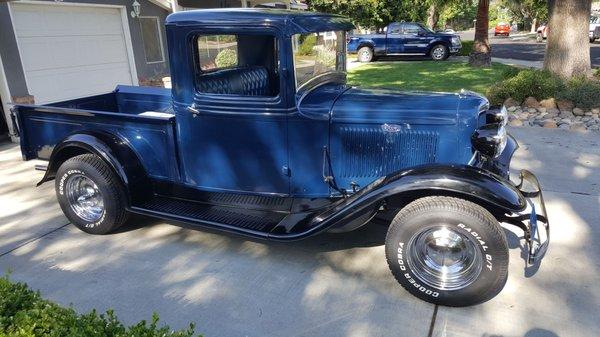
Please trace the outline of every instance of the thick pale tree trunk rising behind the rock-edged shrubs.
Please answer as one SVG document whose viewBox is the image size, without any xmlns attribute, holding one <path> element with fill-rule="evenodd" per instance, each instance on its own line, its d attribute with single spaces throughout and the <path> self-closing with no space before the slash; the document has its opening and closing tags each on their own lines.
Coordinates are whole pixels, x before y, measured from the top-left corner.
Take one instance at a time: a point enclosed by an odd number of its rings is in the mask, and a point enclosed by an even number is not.
<svg viewBox="0 0 600 337">
<path fill-rule="evenodd" d="M 544 69 L 560 77 L 591 74 L 588 36 L 591 0 L 549 0 Z"/>
</svg>

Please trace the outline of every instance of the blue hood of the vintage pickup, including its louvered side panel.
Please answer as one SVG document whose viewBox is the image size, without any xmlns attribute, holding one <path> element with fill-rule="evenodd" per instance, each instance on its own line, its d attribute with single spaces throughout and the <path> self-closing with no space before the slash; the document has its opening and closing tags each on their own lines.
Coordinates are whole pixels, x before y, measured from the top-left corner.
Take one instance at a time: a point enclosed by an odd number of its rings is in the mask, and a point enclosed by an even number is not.
<svg viewBox="0 0 600 337">
<path fill-rule="evenodd" d="M 399 92 L 350 88 L 331 112 L 331 160 L 339 186 L 423 164 L 467 164 L 478 107 L 470 92 Z"/>
</svg>

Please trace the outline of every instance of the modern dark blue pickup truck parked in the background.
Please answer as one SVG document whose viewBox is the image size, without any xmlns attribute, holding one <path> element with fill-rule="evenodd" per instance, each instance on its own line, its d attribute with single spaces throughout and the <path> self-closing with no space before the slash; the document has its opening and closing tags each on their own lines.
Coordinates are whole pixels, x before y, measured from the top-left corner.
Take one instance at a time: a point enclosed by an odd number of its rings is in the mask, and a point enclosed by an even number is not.
<svg viewBox="0 0 600 337">
<path fill-rule="evenodd" d="M 460 52 L 461 47 L 458 35 L 436 33 L 416 22 L 394 22 L 384 34 L 354 35 L 348 40 L 348 52 L 356 53 L 360 62 L 395 55 L 427 55 L 442 61 Z"/>
</svg>

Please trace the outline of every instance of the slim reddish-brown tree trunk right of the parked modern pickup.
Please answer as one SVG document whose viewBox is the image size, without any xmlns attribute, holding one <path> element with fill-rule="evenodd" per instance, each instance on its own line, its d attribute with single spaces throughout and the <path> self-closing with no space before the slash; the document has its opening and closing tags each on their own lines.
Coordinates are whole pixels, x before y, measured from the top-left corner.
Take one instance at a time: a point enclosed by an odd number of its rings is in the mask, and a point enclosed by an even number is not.
<svg viewBox="0 0 600 337">
<path fill-rule="evenodd" d="M 474 67 L 492 66 L 492 48 L 488 39 L 490 1 L 479 0 L 475 22 L 475 43 L 469 55 L 469 64 Z"/>
</svg>

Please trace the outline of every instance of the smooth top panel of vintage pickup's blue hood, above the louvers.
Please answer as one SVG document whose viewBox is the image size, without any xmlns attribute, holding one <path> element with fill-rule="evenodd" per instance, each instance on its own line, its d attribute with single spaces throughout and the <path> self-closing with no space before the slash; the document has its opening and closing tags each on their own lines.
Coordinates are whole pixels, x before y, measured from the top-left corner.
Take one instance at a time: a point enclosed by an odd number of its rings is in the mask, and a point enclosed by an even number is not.
<svg viewBox="0 0 600 337">
<path fill-rule="evenodd" d="M 336 100 L 331 117 L 340 123 L 456 124 L 459 102 L 454 93 L 350 88 Z"/>
</svg>

